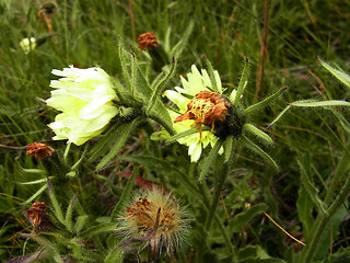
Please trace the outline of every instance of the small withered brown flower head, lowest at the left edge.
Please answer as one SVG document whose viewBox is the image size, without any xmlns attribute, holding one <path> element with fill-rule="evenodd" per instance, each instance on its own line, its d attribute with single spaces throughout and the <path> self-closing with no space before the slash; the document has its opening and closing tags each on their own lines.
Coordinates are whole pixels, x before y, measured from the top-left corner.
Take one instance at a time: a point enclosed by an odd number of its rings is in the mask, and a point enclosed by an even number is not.
<svg viewBox="0 0 350 263">
<path fill-rule="evenodd" d="M 46 204 L 44 202 L 35 202 L 26 210 L 26 219 L 30 219 L 35 232 L 48 230 L 52 226 L 50 217 L 46 214 Z"/>
</svg>

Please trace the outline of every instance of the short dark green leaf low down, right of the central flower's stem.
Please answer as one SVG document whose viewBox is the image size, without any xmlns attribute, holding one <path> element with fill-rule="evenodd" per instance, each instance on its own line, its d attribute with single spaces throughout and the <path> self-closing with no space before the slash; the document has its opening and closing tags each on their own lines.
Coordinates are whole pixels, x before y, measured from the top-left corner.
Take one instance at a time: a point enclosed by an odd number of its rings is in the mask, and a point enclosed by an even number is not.
<svg viewBox="0 0 350 263">
<path fill-rule="evenodd" d="M 229 229 L 231 233 L 243 232 L 244 228 L 249 225 L 249 221 L 256 217 L 257 215 L 266 211 L 267 206 L 265 204 L 257 204 L 252 206 L 249 209 L 245 211 L 241 211 L 236 215 L 230 222 Z"/>
</svg>

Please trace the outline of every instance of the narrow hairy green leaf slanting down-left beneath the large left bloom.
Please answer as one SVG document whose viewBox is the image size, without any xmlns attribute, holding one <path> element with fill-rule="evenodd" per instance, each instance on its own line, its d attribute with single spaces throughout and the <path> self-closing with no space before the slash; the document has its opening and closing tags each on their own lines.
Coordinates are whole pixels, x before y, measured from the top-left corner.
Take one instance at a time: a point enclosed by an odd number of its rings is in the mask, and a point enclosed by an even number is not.
<svg viewBox="0 0 350 263">
<path fill-rule="evenodd" d="M 101 160 L 101 162 L 97 164 L 96 170 L 101 170 L 104 165 L 106 165 L 112 160 L 112 158 L 114 158 L 118 153 L 119 149 L 124 146 L 125 141 L 129 137 L 129 134 L 131 132 L 133 132 L 133 129 L 136 128 L 136 126 L 138 124 L 139 124 L 139 119 L 136 118 L 136 119 L 131 121 L 130 123 L 121 124 L 116 129 L 116 133 L 114 133 L 114 135 L 116 135 L 116 137 L 110 138 L 110 141 L 114 141 L 114 146 L 112 147 L 108 155 L 105 156 Z"/>
</svg>

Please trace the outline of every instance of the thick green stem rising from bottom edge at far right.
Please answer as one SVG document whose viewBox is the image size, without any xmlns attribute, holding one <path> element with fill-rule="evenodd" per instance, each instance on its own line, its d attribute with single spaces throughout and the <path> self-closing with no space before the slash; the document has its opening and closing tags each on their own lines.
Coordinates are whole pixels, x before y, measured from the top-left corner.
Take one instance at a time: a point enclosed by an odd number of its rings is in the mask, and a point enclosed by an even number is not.
<svg viewBox="0 0 350 263">
<path fill-rule="evenodd" d="M 335 202 L 327 209 L 328 215 L 319 215 L 318 218 L 316 219 L 316 225 L 315 225 L 316 230 L 310 245 L 305 248 L 306 252 L 303 253 L 304 256 L 302 256 L 302 261 L 301 261 L 302 263 L 313 262 L 314 254 L 316 253 L 318 249 L 318 244 L 323 240 L 325 230 L 327 229 L 325 226 L 330 224 L 331 217 L 336 214 L 336 211 L 342 205 L 342 203 L 346 201 L 349 194 L 350 194 L 350 176 L 347 179 L 342 190 L 340 191 Z"/>
</svg>

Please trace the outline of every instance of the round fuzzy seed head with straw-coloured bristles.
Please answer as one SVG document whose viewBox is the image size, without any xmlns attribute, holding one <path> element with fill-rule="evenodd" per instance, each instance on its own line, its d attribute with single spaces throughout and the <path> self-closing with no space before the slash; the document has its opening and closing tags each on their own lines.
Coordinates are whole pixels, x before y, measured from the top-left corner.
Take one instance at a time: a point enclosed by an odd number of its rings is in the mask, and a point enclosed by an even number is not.
<svg viewBox="0 0 350 263">
<path fill-rule="evenodd" d="M 144 241 L 154 254 L 178 249 L 188 231 L 186 211 L 174 196 L 160 191 L 147 191 L 121 218 L 126 241 Z"/>
</svg>

